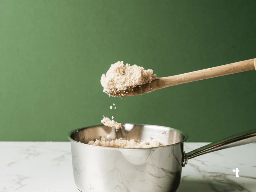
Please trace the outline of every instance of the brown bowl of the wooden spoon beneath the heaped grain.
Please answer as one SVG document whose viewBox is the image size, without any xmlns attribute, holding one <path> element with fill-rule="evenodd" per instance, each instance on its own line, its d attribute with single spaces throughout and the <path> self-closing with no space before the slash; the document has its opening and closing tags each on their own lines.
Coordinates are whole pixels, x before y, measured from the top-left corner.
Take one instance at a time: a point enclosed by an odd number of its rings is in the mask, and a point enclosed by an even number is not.
<svg viewBox="0 0 256 192">
<path fill-rule="evenodd" d="M 158 79 L 153 80 L 150 83 L 139 85 L 136 87 L 127 87 L 126 90 L 111 90 L 110 92 L 104 91 L 106 94 L 110 94 L 113 97 L 129 97 L 135 95 L 141 95 L 158 89 Z"/>
</svg>

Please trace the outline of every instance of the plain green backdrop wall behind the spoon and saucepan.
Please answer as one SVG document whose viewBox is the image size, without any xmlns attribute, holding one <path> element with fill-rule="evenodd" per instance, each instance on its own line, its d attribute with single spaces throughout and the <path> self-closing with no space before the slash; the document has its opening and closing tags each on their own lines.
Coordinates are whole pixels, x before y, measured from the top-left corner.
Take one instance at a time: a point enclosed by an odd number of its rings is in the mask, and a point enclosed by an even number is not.
<svg viewBox="0 0 256 192">
<path fill-rule="evenodd" d="M 0 140 L 67 141 L 103 115 L 181 129 L 190 142 L 255 128 L 256 71 L 122 99 L 100 84 L 116 61 L 165 77 L 255 58 L 255 8 L 254 0 L 0 0 Z"/>
</svg>

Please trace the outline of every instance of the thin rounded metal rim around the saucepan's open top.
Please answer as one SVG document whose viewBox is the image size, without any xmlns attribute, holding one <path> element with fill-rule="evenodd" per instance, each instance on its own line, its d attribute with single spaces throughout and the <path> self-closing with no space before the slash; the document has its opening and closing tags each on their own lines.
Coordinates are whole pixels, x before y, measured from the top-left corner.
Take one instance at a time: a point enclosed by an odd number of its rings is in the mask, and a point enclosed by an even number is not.
<svg viewBox="0 0 256 192">
<path fill-rule="evenodd" d="M 174 130 L 176 132 L 179 132 L 181 134 L 183 134 L 185 137 L 182 141 L 180 142 L 177 142 L 177 143 L 173 143 L 173 144 L 169 144 L 169 145 L 164 145 L 164 146 L 157 146 L 157 147 L 149 147 L 149 148 L 114 148 L 114 147 L 104 147 L 104 149 L 112 149 L 112 150 L 147 150 L 147 149 L 153 149 L 153 148 L 163 148 L 163 147 L 170 147 L 170 146 L 174 146 L 174 145 L 177 145 L 179 143 L 183 143 L 185 141 L 187 141 L 187 139 L 189 138 L 189 136 L 179 130 L 179 129 L 174 129 L 174 128 L 171 128 L 171 127 L 165 127 L 165 126 L 160 126 L 160 125 L 149 125 L 149 124 L 139 124 L 139 123 L 122 123 L 122 124 L 132 124 L 132 125 L 147 125 L 147 126 L 156 126 L 156 127 L 163 127 L 163 128 L 168 128 L 168 129 L 171 129 L 171 130 Z M 69 131 L 68 134 L 67 134 L 67 138 L 72 141 L 72 142 L 75 142 L 75 143 L 79 143 L 78 141 L 75 141 L 74 139 L 71 138 L 71 134 L 74 133 L 75 131 L 79 131 L 79 130 L 82 130 L 82 129 L 88 129 L 88 128 L 91 128 L 91 127 L 102 127 L 104 125 L 92 125 L 92 126 L 88 126 L 88 127 L 82 127 L 82 128 L 78 128 L 78 129 L 74 129 L 72 131 Z M 96 148 L 103 148 L 102 146 L 95 146 L 95 145 L 89 145 L 89 144 L 86 144 L 86 143 L 79 143 L 79 144 L 84 144 L 84 145 L 87 145 L 87 146 L 90 146 L 90 147 L 96 147 Z"/>
</svg>

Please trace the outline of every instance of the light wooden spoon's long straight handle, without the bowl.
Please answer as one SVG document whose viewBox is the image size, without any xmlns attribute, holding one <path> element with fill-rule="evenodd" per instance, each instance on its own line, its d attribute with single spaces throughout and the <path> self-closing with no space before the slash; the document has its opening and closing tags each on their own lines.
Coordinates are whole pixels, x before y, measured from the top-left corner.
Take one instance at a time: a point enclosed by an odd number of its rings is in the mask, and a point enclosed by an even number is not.
<svg viewBox="0 0 256 192">
<path fill-rule="evenodd" d="M 256 70 L 255 59 L 249 59 L 245 61 L 239 61 L 236 63 L 230 63 L 227 65 L 221 65 L 218 67 L 212 67 L 208 69 L 202 69 L 199 71 L 193 71 L 190 73 L 183 73 L 180 75 L 174 75 L 170 77 L 158 78 L 160 88 L 169 87 L 173 85 L 183 84 L 187 82 L 193 82 L 203 79 L 209 79 L 213 77 L 220 77 L 224 75 L 230 75 L 233 73 L 239 73 L 243 71 Z"/>
</svg>

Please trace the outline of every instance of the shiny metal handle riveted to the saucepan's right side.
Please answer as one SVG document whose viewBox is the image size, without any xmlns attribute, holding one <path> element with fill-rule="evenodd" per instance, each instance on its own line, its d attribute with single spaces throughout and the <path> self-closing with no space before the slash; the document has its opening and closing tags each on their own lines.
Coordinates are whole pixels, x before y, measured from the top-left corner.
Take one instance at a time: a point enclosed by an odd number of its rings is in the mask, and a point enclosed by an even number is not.
<svg viewBox="0 0 256 192">
<path fill-rule="evenodd" d="M 220 141 L 210 143 L 208 145 L 202 146 L 198 149 L 195 149 L 193 151 L 186 153 L 182 160 L 182 166 L 184 167 L 187 164 L 188 159 L 197 157 L 199 155 L 203 155 L 213 151 L 218 151 L 220 149 L 226 149 L 230 147 L 235 147 L 235 146 L 255 143 L 255 142 L 256 142 L 256 129 L 245 131 L 237 135 L 227 137 Z"/>
</svg>

